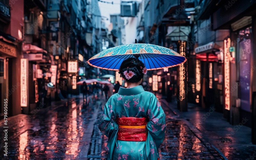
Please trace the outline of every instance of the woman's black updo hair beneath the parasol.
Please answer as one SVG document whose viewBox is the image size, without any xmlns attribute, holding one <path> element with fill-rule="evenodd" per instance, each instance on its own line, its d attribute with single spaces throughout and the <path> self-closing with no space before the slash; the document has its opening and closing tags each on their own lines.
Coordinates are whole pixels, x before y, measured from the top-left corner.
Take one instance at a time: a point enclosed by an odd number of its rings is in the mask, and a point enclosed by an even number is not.
<svg viewBox="0 0 256 160">
<path fill-rule="evenodd" d="M 142 73 L 142 70 L 144 67 L 145 65 L 141 60 L 131 57 L 131 58 L 125 59 L 122 62 L 119 68 L 119 73 L 121 74 L 121 77 L 123 77 L 123 79 L 125 79 L 127 82 L 130 82 L 130 83 L 139 82 L 144 76 L 144 73 Z M 129 71 L 132 71 L 135 75 L 130 79 L 126 79 L 124 75 L 124 71 L 127 71 L 128 73 Z"/>
</svg>

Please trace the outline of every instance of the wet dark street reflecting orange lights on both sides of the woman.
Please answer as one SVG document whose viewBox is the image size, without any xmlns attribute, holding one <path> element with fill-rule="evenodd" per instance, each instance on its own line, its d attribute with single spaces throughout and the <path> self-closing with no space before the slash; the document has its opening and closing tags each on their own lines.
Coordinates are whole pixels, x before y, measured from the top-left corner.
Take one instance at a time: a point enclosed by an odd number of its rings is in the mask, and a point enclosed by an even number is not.
<svg viewBox="0 0 256 160">
<path fill-rule="evenodd" d="M 84 107 L 82 99 L 73 98 L 40 109 L 31 117 L 12 117 L 8 121 L 8 157 L 3 156 L 1 139 L 0 159 L 106 159 L 108 138 L 98 129 L 105 102 L 99 97 Z M 161 159 L 223 159 L 210 144 L 190 132 L 185 120 L 174 118 L 168 106 L 161 105 L 167 125 L 159 148 Z M 0 125 L 3 128 L 3 123 Z"/>
</svg>

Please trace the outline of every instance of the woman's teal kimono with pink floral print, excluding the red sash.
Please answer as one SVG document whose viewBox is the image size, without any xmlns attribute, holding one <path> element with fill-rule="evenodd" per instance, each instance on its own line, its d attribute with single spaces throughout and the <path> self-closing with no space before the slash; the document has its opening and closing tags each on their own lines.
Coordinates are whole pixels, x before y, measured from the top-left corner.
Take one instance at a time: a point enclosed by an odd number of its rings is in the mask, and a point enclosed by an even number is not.
<svg viewBox="0 0 256 160">
<path fill-rule="evenodd" d="M 119 117 L 147 118 L 146 140 L 136 142 L 117 140 L 119 125 L 116 120 Z M 144 91 L 142 86 L 120 87 L 118 93 L 112 95 L 106 102 L 99 121 L 100 131 L 109 138 L 108 160 L 157 160 L 158 148 L 164 140 L 165 128 L 165 113 L 161 105 L 155 95 Z"/>
</svg>

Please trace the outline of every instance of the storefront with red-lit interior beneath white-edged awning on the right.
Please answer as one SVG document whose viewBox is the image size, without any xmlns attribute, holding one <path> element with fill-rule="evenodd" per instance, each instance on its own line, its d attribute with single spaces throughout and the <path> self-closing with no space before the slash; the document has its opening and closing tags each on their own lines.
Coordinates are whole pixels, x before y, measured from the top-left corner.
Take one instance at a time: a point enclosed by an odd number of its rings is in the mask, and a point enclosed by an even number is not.
<svg viewBox="0 0 256 160">
<path fill-rule="evenodd" d="M 218 112 L 222 108 L 222 43 L 210 42 L 195 48 L 195 93 L 196 103 L 202 108 L 215 106 Z"/>
</svg>

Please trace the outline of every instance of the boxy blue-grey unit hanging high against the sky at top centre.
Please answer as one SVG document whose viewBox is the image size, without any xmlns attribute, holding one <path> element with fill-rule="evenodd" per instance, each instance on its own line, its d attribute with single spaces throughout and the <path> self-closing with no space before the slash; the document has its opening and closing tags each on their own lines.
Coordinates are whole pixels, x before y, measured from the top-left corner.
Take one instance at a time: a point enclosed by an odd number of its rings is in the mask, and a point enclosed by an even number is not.
<svg viewBox="0 0 256 160">
<path fill-rule="evenodd" d="M 137 15 L 136 2 L 121 2 L 121 17 L 135 17 Z"/>
</svg>

